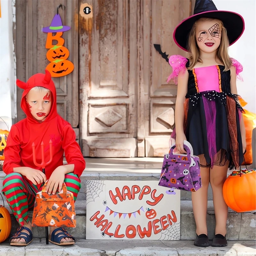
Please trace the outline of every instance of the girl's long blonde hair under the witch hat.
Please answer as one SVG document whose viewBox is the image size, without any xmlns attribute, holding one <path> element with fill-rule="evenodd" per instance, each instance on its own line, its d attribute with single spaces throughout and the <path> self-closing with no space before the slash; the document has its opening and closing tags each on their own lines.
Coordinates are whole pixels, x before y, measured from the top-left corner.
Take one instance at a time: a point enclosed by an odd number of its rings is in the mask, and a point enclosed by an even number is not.
<svg viewBox="0 0 256 256">
<path fill-rule="evenodd" d="M 212 18 L 201 18 L 199 20 L 218 20 L 218 19 L 212 19 Z M 202 60 L 199 58 L 199 48 L 196 43 L 196 24 L 198 20 L 194 23 L 193 27 L 191 28 L 189 34 L 188 34 L 188 51 L 191 53 L 191 56 L 189 58 L 189 66 L 188 69 L 193 69 L 195 67 L 197 62 L 202 62 Z M 229 46 L 229 41 L 228 41 L 228 35 L 227 35 L 227 30 L 223 25 L 223 22 L 221 20 L 218 20 L 218 23 L 220 25 L 221 29 L 221 40 L 220 40 L 220 46 L 217 49 L 217 54 L 216 54 L 216 61 L 219 59 L 220 61 L 223 62 L 225 68 L 224 71 L 227 71 L 231 67 L 231 60 L 228 55 L 228 46 Z"/>
</svg>

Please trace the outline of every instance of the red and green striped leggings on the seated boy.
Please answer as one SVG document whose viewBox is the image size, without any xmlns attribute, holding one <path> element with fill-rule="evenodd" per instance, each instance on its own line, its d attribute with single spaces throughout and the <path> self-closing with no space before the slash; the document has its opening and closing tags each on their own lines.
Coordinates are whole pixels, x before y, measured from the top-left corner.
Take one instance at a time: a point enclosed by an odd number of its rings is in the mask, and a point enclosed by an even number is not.
<svg viewBox="0 0 256 256">
<path fill-rule="evenodd" d="M 77 194 L 81 188 L 81 181 L 78 176 L 72 172 L 65 174 L 64 182 L 67 190 L 72 192 L 76 201 Z M 24 220 L 29 221 L 28 211 L 33 210 L 36 193 L 41 191 L 43 184 L 38 188 L 32 186 L 18 172 L 12 172 L 5 176 L 2 192 L 6 197 L 15 218 L 24 226 Z"/>
</svg>

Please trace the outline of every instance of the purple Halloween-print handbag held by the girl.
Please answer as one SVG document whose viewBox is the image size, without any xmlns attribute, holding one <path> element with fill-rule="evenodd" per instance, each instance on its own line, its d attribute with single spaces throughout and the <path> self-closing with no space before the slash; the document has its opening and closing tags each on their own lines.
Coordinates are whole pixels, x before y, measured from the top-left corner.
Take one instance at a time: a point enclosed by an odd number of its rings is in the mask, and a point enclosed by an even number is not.
<svg viewBox="0 0 256 256">
<path fill-rule="evenodd" d="M 199 157 L 193 156 L 193 148 L 188 141 L 184 141 L 187 155 L 173 154 L 175 145 L 169 154 L 164 156 L 159 186 L 180 190 L 196 191 L 202 187 Z"/>
</svg>

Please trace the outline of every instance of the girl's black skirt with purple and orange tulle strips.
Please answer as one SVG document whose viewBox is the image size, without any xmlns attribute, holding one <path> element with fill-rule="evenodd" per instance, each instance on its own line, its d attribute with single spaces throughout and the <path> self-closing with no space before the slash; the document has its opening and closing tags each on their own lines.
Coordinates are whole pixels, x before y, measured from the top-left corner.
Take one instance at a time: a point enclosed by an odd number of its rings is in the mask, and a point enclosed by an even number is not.
<svg viewBox="0 0 256 256">
<path fill-rule="evenodd" d="M 186 95 L 184 133 L 194 155 L 199 156 L 201 167 L 237 168 L 243 163 L 240 131 L 243 109 L 237 97 L 215 91 Z M 171 137 L 175 139 L 175 131 Z"/>
</svg>

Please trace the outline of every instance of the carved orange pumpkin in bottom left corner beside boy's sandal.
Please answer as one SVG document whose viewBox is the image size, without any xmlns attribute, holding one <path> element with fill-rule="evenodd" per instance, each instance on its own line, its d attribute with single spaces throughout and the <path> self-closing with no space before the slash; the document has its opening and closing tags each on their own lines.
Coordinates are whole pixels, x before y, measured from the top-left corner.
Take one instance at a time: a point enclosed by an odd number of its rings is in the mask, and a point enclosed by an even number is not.
<svg viewBox="0 0 256 256">
<path fill-rule="evenodd" d="M 11 216 L 8 210 L 0 205 L 0 243 L 8 238 L 11 232 Z"/>
</svg>

